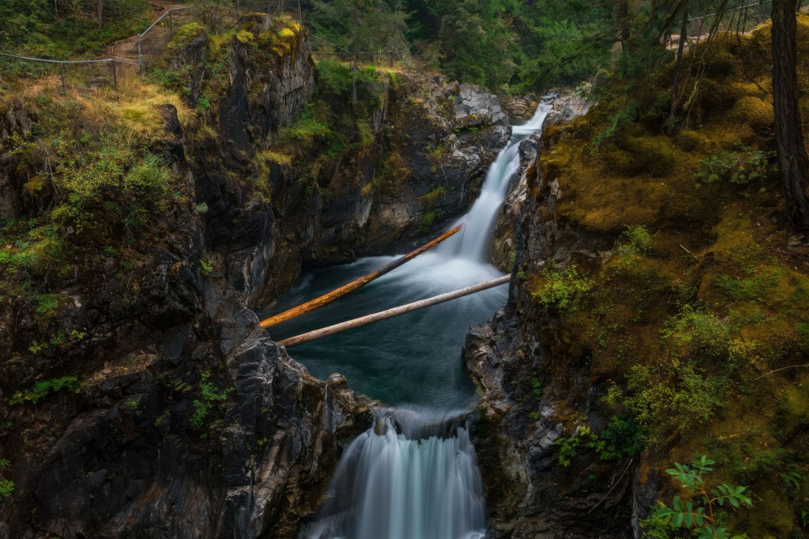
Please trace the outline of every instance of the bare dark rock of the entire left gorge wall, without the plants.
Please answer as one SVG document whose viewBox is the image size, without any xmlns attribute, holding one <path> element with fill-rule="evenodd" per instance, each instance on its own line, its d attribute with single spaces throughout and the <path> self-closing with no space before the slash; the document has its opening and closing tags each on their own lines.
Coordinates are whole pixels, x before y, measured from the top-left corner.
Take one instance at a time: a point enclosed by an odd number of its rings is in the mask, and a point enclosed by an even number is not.
<svg viewBox="0 0 809 539">
<path fill-rule="evenodd" d="M 314 91 L 308 46 L 300 34 L 270 62 L 234 40 L 218 108 L 195 132 L 172 105 L 159 109 L 163 140 L 150 151 L 181 178 L 178 202 L 125 278 L 97 246 L 66 279 L 53 323 L 82 329 L 70 346 L 29 353 L 31 309 L 2 311 L 0 454 L 16 488 L 0 503 L 0 539 L 295 537 L 342 448 L 370 426 L 369 401 L 341 376 L 310 376 L 248 308 L 302 265 L 421 243 L 466 210 L 510 129 L 480 88 L 402 78 L 372 111 L 371 151 L 352 158 L 359 181 L 335 165 L 306 193 L 299 171 L 263 169 L 259 154 Z M 173 66 L 196 104 L 210 48 L 204 35 L 183 47 Z M 3 218 L 47 202 L 23 193 L 5 151 L 28 129 L 21 104 L 0 119 Z M 407 177 L 368 189 L 393 154 Z M 11 405 L 43 380 L 61 385 Z"/>
</svg>

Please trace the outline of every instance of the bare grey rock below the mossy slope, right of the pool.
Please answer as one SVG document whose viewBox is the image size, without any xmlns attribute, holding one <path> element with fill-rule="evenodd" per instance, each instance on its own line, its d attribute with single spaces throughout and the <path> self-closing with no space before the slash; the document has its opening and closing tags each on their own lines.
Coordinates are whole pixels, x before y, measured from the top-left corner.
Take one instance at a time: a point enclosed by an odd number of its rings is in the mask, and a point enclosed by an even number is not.
<svg viewBox="0 0 809 539">
<path fill-rule="evenodd" d="M 557 219 L 554 206 L 563 193 L 544 177 L 538 157 L 554 136 L 529 138 L 520 148 L 525 162 L 522 201 L 513 205 L 514 267 L 527 274 L 548 260 L 597 264 L 616 240 Z M 475 445 L 489 503 L 487 537 L 633 537 L 639 511 L 654 499 L 656 479 L 642 477 L 637 461 L 616 465 L 594 455 L 570 468 L 559 464 L 557 439 L 580 427 L 598 431 L 608 422 L 599 401 L 606 380 L 591 372 L 587 350 L 540 310 L 526 282 L 515 278 L 506 307 L 472 328 L 464 360 L 485 391 Z"/>
</svg>

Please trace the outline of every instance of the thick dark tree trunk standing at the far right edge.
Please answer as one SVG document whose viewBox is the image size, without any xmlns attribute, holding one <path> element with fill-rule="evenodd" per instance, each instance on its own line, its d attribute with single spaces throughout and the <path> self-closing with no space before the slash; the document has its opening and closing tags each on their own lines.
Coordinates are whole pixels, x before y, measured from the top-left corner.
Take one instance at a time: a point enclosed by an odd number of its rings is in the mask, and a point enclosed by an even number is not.
<svg viewBox="0 0 809 539">
<path fill-rule="evenodd" d="M 798 74 L 795 11 L 798 0 L 773 0 L 773 107 L 775 142 L 786 201 L 786 217 L 798 230 L 809 229 L 809 201 L 804 190 L 809 156 L 803 145 L 798 110 Z"/>
</svg>

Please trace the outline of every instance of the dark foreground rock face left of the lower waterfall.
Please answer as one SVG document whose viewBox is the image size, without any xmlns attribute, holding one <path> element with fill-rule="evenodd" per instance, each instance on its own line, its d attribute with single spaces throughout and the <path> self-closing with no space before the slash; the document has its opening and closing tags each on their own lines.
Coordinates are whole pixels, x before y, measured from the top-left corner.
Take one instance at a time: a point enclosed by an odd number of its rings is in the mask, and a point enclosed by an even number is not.
<svg viewBox="0 0 809 539">
<path fill-rule="evenodd" d="M 193 177 L 176 111 L 163 113 L 164 159 Z M 185 189 L 193 198 L 195 182 Z M 227 253 L 200 273 L 210 230 L 193 205 L 161 219 L 166 236 L 126 280 L 100 261 L 61 292 L 72 303 L 58 324 L 86 332 L 76 346 L 3 358 L 0 450 L 16 489 L 2 539 L 294 537 L 341 448 L 370 426 L 345 379 L 314 379 L 260 329 Z M 5 355 L 36 320 L 0 326 Z M 66 373 L 81 384 L 10 405 Z"/>
</svg>

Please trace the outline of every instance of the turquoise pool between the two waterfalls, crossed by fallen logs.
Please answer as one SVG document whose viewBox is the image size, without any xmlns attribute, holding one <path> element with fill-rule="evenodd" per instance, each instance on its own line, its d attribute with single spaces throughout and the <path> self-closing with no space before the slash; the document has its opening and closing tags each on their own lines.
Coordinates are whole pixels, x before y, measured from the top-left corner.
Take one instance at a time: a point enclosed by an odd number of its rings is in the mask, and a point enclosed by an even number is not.
<svg viewBox="0 0 809 539">
<path fill-rule="evenodd" d="M 369 257 L 353 264 L 311 271 L 276 303 L 259 312 L 259 316 L 263 319 L 285 311 L 395 259 Z M 479 261 L 425 253 L 334 303 L 273 326 L 269 333 L 273 340 L 281 340 L 501 275 L 492 265 Z M 507 290 L 507 286 L 498 286 L 349 329 L 291 347 L 289 353 L 314 376 L 325 379 L 339 372 L 349 380 L 355 392 L 379 399 L 386 405 L 468 409 L 475 404 L 477 396 L 475 384 L 464 370 L 461 345 L 472 324 L 485 322 L 502 307 Z"/>
</svg>

